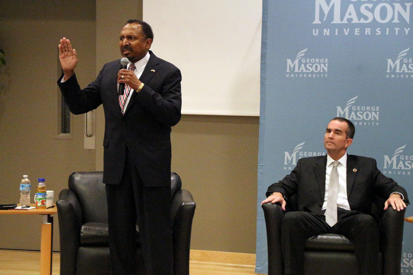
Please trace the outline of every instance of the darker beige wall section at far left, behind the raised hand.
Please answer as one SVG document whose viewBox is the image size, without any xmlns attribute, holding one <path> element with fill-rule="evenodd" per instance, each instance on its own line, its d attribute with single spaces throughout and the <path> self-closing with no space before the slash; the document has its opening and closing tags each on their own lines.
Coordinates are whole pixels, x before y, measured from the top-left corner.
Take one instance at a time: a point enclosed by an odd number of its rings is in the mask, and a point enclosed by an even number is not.
<svg viewBox="0 0 413 275">
<path fill-rule="evenodd" d="M 76 44 L 82 59 L 77 69 L 81 85 L 95 77 L 95 3 L 50 3 L 0 1 L 0 47 L 6 52 L 10 84 L 0 91 L 1 202 L 18 202 L 24 173 L 32 180 L 32 197 L 38 177 L 45 177 L 57 196 L 72 171 L 95 169 L 95 150 L 83 149 L 83 115 L 72 116 L 73 139 L 55 138 L 57 45 L 62 36 Z M 41 220 L 1 215 L 0 248 L 39 249 Z"/>
</svg>

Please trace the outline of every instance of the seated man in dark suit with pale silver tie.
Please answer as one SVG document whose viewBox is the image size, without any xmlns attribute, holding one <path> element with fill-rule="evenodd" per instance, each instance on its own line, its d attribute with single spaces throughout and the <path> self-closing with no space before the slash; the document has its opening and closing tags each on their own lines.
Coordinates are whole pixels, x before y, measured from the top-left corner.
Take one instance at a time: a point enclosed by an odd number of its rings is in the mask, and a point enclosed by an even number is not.
<svg viewBox="0 0 413 275">
<path fill-rule="evenodd" d="M 302 274 L 305 239 L 321 233 L 337 233 L 354 243 L 360 275 L 376 274 L 378 229 L 370 212 L 374 195 L 397 211 L 408 204 L 407 193 L 384 176 L 373 158 L 348 155 L 354 136 L 348 119 L 335 117 L 324 134 L 326 156 L 301 158 L 293 171 L 268 187 L 261 203 L 281 203 L 297 194 L 299 211 L 287 212 L 281 225 L 285 274 Z M 332 205 L 332 206 L 330 206 Z"/>
</svg>

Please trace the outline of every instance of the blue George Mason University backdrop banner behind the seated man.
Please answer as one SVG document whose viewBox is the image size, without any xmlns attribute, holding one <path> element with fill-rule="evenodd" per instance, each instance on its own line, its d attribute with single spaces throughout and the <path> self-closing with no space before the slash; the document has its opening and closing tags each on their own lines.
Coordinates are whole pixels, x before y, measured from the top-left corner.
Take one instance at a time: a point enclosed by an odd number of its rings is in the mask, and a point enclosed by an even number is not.
<svg viewBox="0 0 413 275">
<path fill-rule="evenodd" d="M 263 0 L 257 273 L 268 270 L 265 191 L 299 158 L 326 154 L 335 116 L 355 125 L 348 153 L 375 158 L 413 199 L 412 3 Z M 412 236 L 406 222 L 401 274 L 413 273 Z"/>
</svg>

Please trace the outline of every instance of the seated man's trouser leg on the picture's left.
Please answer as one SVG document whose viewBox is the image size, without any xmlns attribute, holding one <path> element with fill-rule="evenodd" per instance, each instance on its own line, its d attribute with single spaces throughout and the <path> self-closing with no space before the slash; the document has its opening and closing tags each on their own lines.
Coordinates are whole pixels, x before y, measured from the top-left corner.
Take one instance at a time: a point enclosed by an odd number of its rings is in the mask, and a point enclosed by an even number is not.
<svg viewBox="0 0 413 275">
<path fill-rule="evenodd" d="M 305 240 L 313 235 L 328 233 L 330 230 L 323 215 L 305 211 L 285 213 L 281 224 L 285 274 L 303 274 Z"/>
</svg>

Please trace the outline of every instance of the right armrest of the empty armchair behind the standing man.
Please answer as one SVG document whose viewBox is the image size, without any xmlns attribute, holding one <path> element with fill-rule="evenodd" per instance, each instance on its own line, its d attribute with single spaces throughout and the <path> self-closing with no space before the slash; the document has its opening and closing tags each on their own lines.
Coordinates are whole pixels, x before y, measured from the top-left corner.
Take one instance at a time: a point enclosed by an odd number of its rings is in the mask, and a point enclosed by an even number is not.
<svg viewBox="0 0 413 275">
<path fill-rule="evenodd" d="M 185 189 L 177 191 L 171 202 L 174 274 L 189 275 L 189 250 L 195 206 L 191 193 Z"/>
</svg>

